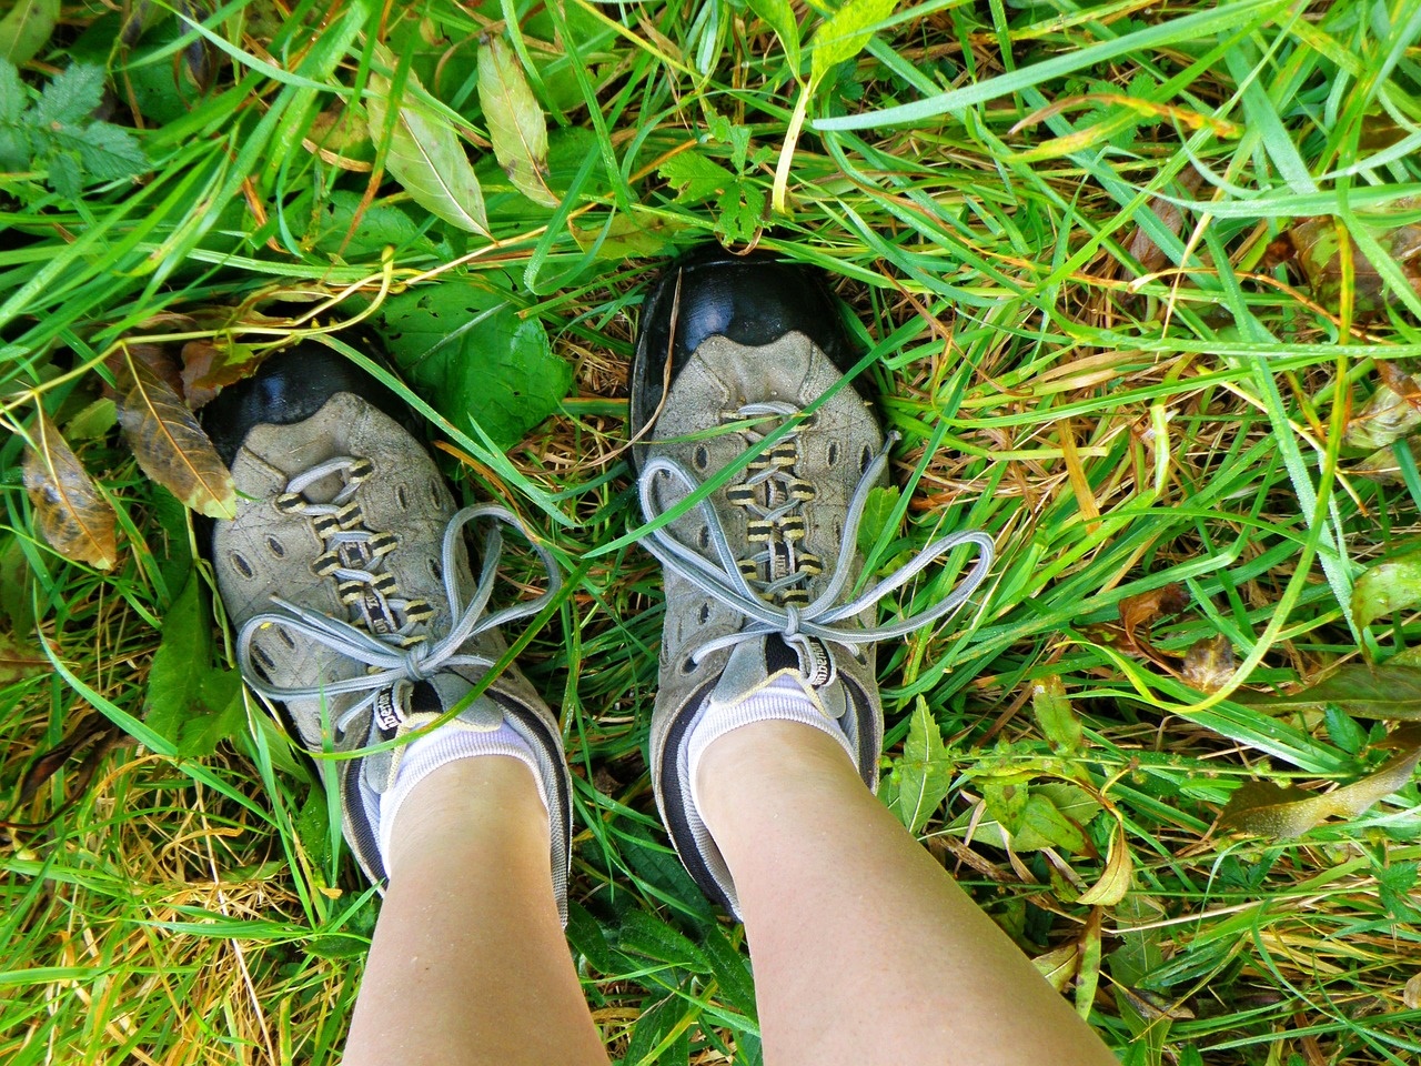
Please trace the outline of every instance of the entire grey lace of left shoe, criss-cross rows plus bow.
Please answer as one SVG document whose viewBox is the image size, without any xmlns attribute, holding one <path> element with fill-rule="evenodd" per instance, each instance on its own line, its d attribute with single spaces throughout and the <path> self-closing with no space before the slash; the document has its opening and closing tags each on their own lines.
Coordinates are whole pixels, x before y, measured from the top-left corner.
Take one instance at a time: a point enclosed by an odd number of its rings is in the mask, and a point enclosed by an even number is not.
<svg viewBox="0 0 1421 1066">
<path fill-rule="evenodd" d="M 529 529 L 513 512 L 496 505 L 465 507 L 450 516 L 449 523 L 443 530 L 441 549 L 441 577 L 443 581 L 443 594 L 449 603 L 449 615 L 452 618 L 449 631 L 438 638 L 433 638 L 432 634 L 411 634 L 411 628 L 432 617 L 433 611 L 422 600 L 399 600 L 398 597 L 389 596 L 389 593 L 394 591 L 391 583 L 387 580 L 391 578 L 391 574 L 388 571 L 381 573 L 378 564 L 384 556 L 395 550 L 398 540 L 391 537 L 391 542 L 394 543 L 389 543 L 387 547 L 385 542 L 381 539 L 389 537 L 389 534 L 355 529 L 354 523 L 357 522 L 357 516 L 348 510 L 354 497 L 354 489 L 362 473 L 368 476 L 368 470 L 365 470 L 364 466 L 367 463 L 368 461 L 364 459 L 348 458 L 333 459 L 321 463 L 320 466 L 315 466 L 293 479 L 287 486 L 287 493 L 277 497 L 277 507 L 286 509 L 287 512 L 298 510 L 301 513 L 307 513 L 314 522 L 317 522 L 318 533 L 325 529 L 325 533 L 321 533 L 321 536 L 331 547 L 327 554 L 318 557 L 315 563 L 317 571 L 324 573 L 324 576 L 335 577 L 341 586 L 345 587 L 345 591 L 342 591 L 342 601 L 352 608 L 358 608 L 362 617 L 372 615 L 378 623 L 382 617 L 388 618 L 391 613 L 388 610 L 381 610 L 378 605 L 372 607 L 371 600 L 355 600 L 355 593 L 350 588 L 351 583 L 361 584 L 367 587 L 367 591 L 372 591 L 375 594 L 375 604 L 388 604 L 391 607 L 414 605 L 415 610 L 402 611 L 406 615 L 402 625 L 395 627 L 389 624 L 381 627 L 377 624 L 375 628 L 365 628 L 341 618 L 333 618 L 331 615 L 320 611 L 313 611 L 307 607 L 301 607 L 300 604 L 290 603 L 279 596 L 273 596 L 271 604 L 277 610 L 253 615 L 237 632 L 237 665 L 252 688 L 269 699 L 290 701 L 325 698 L 342 694 L 362 694 L 362 698 L 357 699 L 357 702 L 347 708 L 337 719 L 335 728 L 340 732 L 344 732 L 367 708 L 375 705 L 381 695 L 388 694 L 396 682 L 423 681 L 442 669 L 453 667 L 493 667 L 495 659 L 490 659 L 486 655 L 460 651 L 460 648 L 469 640 L 482 632 L 487 632 L 489 630 L 506 623 L 537 614 L 544 605 L 547 605 L 549 601 L 551 601 L 561 587 L 561 577 L 553 554 L 533 537 Z M 352 473 L 354 476 L 351 476 L 347 485 L 342 486 L 330 505 L 310 503 L 301 497 L 301 492 L 306 488 L 334 472 Z M 287 496 L 294 496 L 297 499 L 286 499 Z M 328 524 L 321 523 L 323 517 L 338 515 L 342 510 L 345 513 L 345 522 L 344 527 L 340 530 L 330 529 Z M 468 601 L 465 601 L 458 584 L 459 537 L 466 526 L 479 522 L 480 519 L 487 520 L 480 551 L 482 569 L 477 584 L 473 588 L 473 594 L 468 598 Z M 529 544 L 533 546 L 533 550 L 537 553 L 539 560 L 543 563 L 543 569 L 547 573 L 547 587 L 533 600 L 526 600 L 489 613 L 489 600 L 493 596 L 493 586 L 497 580 L 499 563 L 503 556 L 503 526 L 512 526 L 529 542 Z M 371 547 L 371 542 L 375 542 L 374 547 Z M 364 544 L 365 553 L 371 556 L 375 566 L 371 566 L 367 570 L 357 570 L 348 566 L 330 566 L 327 560 L 330 551 L 338 553 L 342 546 L 351 544 Z M 342 559 L 348 560 L 351 554 L 352 553 L 347 551 Z M 354 554 L 358 556 L 361 553 L 355 551 Z M 423 610 L 419 610 L 419 605 L 423 605 Z M 314 640 L 344 657 L 364 664 L 365 674 L 345 681 L 333 681 L 323 685 L 274 685 L 261 678 L 260 672 L 254 668 L 256 661 L 253 658 L 253 640 L 260 630 L 264 630 L 269 625 L 283 627 L 293 634 Z"/>
</svg>

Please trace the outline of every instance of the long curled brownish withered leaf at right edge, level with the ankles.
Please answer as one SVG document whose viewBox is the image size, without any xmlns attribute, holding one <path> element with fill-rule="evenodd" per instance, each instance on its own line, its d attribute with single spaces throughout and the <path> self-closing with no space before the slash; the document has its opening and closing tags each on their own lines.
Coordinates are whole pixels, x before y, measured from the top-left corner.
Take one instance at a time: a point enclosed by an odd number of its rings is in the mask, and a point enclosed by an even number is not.
<svg viewBox="0 0 1421 1066">
<path fill-rule="evenodd" d="M 1421 762 L 1421 728 L 1403 726 L 1388 738 L 1403 753 L 1376 773 L 1326 793 L 1270 782 L 1241 786 L 1219 814 L 1219 824 L 1269 837 L 1297 837 L 1329 817 L 1357 817 L 1383 796 L 1411 780 Z"/>
</svg>

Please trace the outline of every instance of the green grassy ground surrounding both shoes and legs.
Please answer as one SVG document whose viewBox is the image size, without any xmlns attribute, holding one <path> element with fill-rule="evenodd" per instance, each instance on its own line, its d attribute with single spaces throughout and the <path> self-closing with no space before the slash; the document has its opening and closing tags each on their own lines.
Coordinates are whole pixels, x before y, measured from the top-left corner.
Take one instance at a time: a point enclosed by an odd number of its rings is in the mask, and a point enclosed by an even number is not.
<svg viewBox="0 0 1421 1066">
<path fill-rule="evenodd" d="M 159 722 L 161 645 L 215 655 L 222 685 L 229 634 L 190 637 L 188 512 L 115 428 L 105 360 L 168 334 L 242 357 L 354 316 L 465 337 L 472 314 L 531 323 L 531 348 L 458 348 L 436 377 L 526 387 L 541 335 L 539 378 L 573 374 L 530 431 L 421 392 L 468 497 L 510 500 L 574 573 L 522 661 L 574 763 L 588 999 L 628 1062 L 760 1060 L 742 932 L 651 803 L 661 603 L 624 539 L 638 303 L 713 237 L 830 269 L 858 313 L 904 436 L 877 564 L 996 537 L 976 601 L 881 652 L 888 790 L 929 797 L 925 846 L 1133 1063 L 1415 1060 L 1410 766 L 1297 837 L 1218 824 L 1245 782 L 1361 777 L 1394 755 L 1368 719 L 1417 714 L 1243 695 L 1418 638 L 1414 584 L 1376 569 L 1418 522 L 1410 409 L 1364 407 L 1414 392 L 1421 355 L 1415 3 L 858 3 L 820 31 L 831 4 L 233 0 L 200 31 L 186 3 L 77 0 L 53 30 L 57 4 L 21 7 L 28 37 L 0 27 L 28 101 L 0 85 L 0 1060 L 334 1062 L 378 910 L 260 705 Z M 557 206 L 493 159 L 485 33 L 533 74 Z M 71 63 L 108 72 L 98 112 L 58 99 Z M 463 136 L 492 242 L 405 192 L 408 146 L 357 92 L 382 85 Z M 36 533 L 37 405 L 117 509 L 111 569 Z"/>
</svg>

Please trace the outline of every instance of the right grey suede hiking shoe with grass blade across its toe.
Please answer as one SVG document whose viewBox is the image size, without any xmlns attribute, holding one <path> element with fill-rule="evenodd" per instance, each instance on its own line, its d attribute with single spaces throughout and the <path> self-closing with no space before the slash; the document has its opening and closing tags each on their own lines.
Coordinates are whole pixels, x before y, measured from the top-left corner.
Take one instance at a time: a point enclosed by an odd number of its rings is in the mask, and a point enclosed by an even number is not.
<svg viewBox="0 0 1421 1066">
<path fill-rule="evenodd" d="M 652 786 L 686 870 L 736 915 L 729 870 L 696 810 L 699 752 L 749 721 L 804 721 L 831 733 L 877 790 L 874 642 L 961 607 L 992 563 L 990 537 L 958 533 L 853 593 L 864 503 L 887 485 L 897 439 L 845 379 L 855 361 L 817 274 L 770 257 L 703 249 L 644 304 L 631 379 L 642 513 L 654 522 L 701 496 L 641 540 L 666 590 Z M 976 546 L 978 560 L 951 596 L 875 624 L 881 597 L 959 544 Z"/>
</svg>

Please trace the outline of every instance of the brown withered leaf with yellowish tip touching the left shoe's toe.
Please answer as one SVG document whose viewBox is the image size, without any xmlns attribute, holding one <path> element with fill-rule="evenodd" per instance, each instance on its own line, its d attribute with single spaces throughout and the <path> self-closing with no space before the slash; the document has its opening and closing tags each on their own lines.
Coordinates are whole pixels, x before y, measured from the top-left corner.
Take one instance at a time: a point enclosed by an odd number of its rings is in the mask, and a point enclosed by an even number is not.
<svg viewBox="0 0 1421 1066">
<path fill-rule="evenodd" d="M 118 421 L 144 473 L 192 510 L 233 517 L 237 496 L 232 473 L 172 387 L 146 362 L 126 357 L 118 391 Z"/>
</svg>

